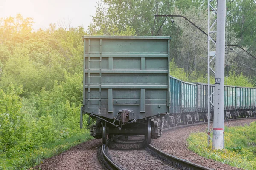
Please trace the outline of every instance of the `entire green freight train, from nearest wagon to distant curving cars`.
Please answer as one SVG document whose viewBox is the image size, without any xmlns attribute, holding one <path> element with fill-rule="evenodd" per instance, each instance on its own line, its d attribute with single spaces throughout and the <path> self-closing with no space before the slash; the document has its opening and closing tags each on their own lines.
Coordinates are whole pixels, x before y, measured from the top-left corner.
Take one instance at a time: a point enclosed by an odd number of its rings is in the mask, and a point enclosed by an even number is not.
<svg viewBox="0 0 256 170">
<path fill-rule="evenodd" d="M 84 114 L 95 118 L 91 136 L 105 143 L 107 136 L 142 134 L 150 143 L 165 127 L 208 120 L 207 84 L 170 76 L 170 37 L 83 36 L 83 42 L 80 127 Z M 255 107 L 256 88 L 225 86 L 227 119 L 255 116 Z"/>
</svg>

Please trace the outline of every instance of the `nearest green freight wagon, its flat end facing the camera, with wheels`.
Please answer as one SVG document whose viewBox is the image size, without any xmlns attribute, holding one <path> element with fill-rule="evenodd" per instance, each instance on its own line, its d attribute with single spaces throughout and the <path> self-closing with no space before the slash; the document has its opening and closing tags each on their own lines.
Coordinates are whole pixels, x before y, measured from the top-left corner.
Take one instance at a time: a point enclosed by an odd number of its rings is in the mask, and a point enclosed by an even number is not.
<svg viewBox="0 0 256 170">
<path fill-rule="evenodd" d="M 96 118 L 91 136 L 159 136 L 154 116 L 169 112 L 170 37 L 83 36 L 83 114 Z M 151 128 L 151 122 L 153 123 Z M 82 124 L 80 125 L 82 127 Z"/>
</svg>

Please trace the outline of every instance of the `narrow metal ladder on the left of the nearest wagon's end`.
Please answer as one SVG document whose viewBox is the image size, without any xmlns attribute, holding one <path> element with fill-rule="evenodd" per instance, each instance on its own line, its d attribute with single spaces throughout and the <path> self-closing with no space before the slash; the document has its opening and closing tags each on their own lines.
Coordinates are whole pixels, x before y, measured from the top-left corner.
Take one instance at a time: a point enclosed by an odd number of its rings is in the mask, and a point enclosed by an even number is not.
<svg viewBox="0 0 256 170">
<path fill-rule="evenodd" d="M 99 101 L 99 109 L 101 108 L 101 77 L 102 77 L 102 39 L 99 40 L 100 44 L 90 44 L 90 39 L 88 40 L 89 44 L 88 44 L 88 108 L 90 108 L 90 101 Z M 99 46 L 100 50 L 99 53 L 92 53 L 90 51 L 90 47 L 91 46 Z M 99 60 L 91 60 L 91 54 L 99 54 Z M 97 57 L 98 58 L 98 57 Z M 99 62 L 99 76 L 91 76 L 90 75 L 90 62 Z M 97 70 L 97 69 L 93 69 L 93 70 Z M 91 84 L 90 82 L 90 77 L 99 77 L 99 84 Z M 99 85 L 99 91 L 90 91 L 90 85 Z M 91 93 L 98 93 L 99 94 L 99 99 L 90 99 L 90 94 Z M 97 105 L 97 104 L 93 104 L 93 105 Z"/>
</svg>

